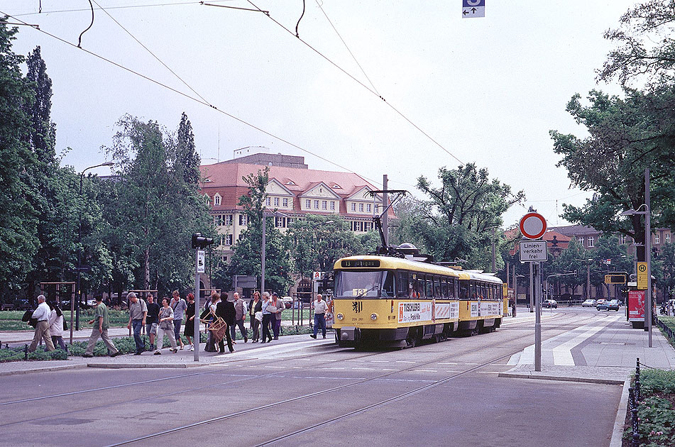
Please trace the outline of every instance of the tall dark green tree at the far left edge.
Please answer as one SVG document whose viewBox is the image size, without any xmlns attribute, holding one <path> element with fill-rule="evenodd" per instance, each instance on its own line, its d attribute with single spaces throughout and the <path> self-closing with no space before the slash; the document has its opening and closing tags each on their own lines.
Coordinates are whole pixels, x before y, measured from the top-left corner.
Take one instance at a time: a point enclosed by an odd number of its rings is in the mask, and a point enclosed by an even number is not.
<svg viewBox="0 0 675 447">
<path fill-rule="evenodd" d="M 38 216 L 26 199 L 27 173 L 37 163 L 28 144 L 31 134 L 26 107 L 33 102 L 29 81 L 21 75 L 21 55 L 11 50 L 17 28 L 0 21 L 0 294 L 22 285 L 38 248 Z"/>
</svg>

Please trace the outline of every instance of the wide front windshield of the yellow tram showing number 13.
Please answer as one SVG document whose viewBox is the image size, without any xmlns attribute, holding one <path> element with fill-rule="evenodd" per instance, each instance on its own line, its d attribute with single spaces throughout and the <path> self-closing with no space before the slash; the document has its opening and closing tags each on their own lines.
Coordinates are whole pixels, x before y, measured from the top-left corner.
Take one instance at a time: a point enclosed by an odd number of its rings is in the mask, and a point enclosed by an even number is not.
<svg viewBox="0 0 675 447">
<path fill-rule="evenodd" d="M 392 272 L 340 271 L 335 275 L 335 296 L 349 298 L 379 298 L 394 296 Z"/>
</svg>

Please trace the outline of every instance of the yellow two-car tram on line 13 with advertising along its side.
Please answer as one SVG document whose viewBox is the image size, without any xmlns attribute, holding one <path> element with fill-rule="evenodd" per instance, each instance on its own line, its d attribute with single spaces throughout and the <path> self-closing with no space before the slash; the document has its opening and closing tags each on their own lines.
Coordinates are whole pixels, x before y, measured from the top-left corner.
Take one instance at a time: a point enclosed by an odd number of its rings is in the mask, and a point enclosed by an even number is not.
<svg viewBox="0 0 675 447">
<path fill-rule="evenodd" d="M 456 331 L 494 331 L 507 315 L 493 275 L 377 255 L 339 259 L 334 273 L 339 346 L 443 341 Z"/>
</svg>

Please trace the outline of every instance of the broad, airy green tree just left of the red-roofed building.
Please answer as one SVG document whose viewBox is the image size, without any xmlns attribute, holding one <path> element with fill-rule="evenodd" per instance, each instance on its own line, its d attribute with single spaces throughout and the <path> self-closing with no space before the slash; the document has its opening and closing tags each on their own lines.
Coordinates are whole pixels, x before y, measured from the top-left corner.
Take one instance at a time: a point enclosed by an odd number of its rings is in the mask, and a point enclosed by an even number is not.
<svg viewBox="0 0 675 447">
<path fill-rule="evenodd" d="M 124 254 L 129 253 L 140 265 L 136 284 L 143 289 L 187 287 L 193 265 L 190 236 L 195 231 L 212 233 L 197 182 L 191 176 L 185 181 L 191 170 L 185 160 L 190 157 L 178 158 L 175 137 L 155 121 L 124 116 L 118 126 L 107 151 L 119 167 L 117 191 L 111 196 L 117 207 L 111 215 L 116 223 L 113 238 L 124 244 L 120 272 L 131 266 Z M 186 155 L 187 150 L 180 153 Z"/>
</svg>

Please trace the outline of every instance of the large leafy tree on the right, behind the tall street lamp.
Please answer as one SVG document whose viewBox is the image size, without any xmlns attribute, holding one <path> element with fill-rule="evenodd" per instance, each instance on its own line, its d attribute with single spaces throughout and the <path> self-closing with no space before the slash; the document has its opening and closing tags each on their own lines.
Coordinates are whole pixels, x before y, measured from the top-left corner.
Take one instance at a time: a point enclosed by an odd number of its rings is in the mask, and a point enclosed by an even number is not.
<svg viewBox="0 0 675 447">
<path fill-rule="evenodd" d="M 671 195 L 675 153 L 667 137 L 673 122 L 666 116 L 666 109 L 675 109 L 675 96 L 628 92 L 620 99 L 593 90 L 588 100 L 591 105 L 583 106 L 575 94 L 567 105 L 575 121 L 588 131 L 586 138 L 550 132 L 555 153 L 563 156 L 558 165 L 567 168 L 576 187 L 596 192 L 584 206 L 564 204 L 564 218 L 644 241 L 641 216 L 625 219 L 619 214 L 644 204 L 644 169 L 650 167 L 655 185 L 651 188 L 653 226 L 675 225 Z M 644 250 L 639 250 L 638 258 L 643 256 Z"/>
</svg>

